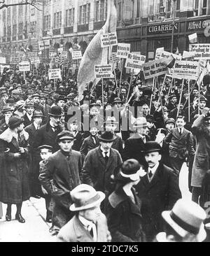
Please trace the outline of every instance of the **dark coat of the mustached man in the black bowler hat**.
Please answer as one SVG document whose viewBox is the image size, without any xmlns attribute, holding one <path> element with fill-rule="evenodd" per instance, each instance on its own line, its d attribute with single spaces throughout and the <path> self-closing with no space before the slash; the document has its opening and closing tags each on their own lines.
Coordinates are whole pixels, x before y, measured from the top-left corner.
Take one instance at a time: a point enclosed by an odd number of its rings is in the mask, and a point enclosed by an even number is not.
<svg viewBox="0 0 210 256">
<path fill-rule="evenodd" d="M 169 167 L 160 164 L 151 182 L 141 178 L 136 191 L 142 201 L 141 214 L 147 240 L 152 241 L 162 231 L 162 211 L 171 210 L 181 198 L 179 178 Z"/>
</svg>

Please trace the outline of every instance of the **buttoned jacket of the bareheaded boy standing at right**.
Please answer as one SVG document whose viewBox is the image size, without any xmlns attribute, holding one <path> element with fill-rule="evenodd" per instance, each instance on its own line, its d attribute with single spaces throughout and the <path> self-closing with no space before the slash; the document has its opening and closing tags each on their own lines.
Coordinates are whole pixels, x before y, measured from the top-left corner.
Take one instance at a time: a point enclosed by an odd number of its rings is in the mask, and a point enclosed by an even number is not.
<svg viewBox="0 0 210 256">
<path fill-rule="evenodd" d="M 194 155 L 193 134 L 187 129 L 183 129 L 183 133 L 179 134 L 179 129 L 176 127 L 167 134 L 165 142 L 169 143 L 169 156 L 185 159 L 188 155 Z"/>
</svg>

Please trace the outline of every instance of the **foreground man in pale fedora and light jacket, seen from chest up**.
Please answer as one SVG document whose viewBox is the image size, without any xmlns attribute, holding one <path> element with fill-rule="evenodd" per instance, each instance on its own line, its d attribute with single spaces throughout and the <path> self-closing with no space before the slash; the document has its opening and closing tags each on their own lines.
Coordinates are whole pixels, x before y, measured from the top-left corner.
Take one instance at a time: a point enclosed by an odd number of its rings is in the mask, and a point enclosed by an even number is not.
<svg viewBox="0 0 210 256">
<path fill-rule="evenodd" d="M 105 198 L 90 185 L 78 185 L 71 191 L 70 211 L 76 215 L 60 229 L 57 242 L 111 242 L 106 216 L 100 209 Z"/>
</svg>

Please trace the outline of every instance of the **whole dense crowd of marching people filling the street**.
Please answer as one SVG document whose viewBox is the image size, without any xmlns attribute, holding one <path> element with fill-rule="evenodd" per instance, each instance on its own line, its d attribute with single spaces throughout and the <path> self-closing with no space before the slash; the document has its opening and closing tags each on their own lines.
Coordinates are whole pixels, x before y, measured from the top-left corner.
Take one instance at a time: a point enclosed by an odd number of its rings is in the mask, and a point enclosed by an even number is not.
<svg viewBox="0 0 210 256">
<path fill-rule="evenodd" d="M 167 77 L 160 92 L 141 72 L 122 78 L 116 69 L 116 79 L 90 82 L 79 101 L 76 74 L 48 80 L 48 68 L 1 75 L 6 221 L 15 204 L 25 223 L 22 202 L 43 197 L 57 241 L 207 240 L 210 76 L 200 88 L 185 80 L 183 90 Z M 192 201 L 179 187 L 185 162 Z"/>
</svg>

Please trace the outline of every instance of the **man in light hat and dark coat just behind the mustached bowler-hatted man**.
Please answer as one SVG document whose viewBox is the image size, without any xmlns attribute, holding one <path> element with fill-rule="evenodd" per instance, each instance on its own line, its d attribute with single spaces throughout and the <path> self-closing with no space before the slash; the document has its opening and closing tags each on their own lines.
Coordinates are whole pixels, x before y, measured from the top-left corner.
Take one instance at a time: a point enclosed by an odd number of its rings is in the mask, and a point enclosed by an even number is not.
<svg viewBox="0 0 210 256">
<path fill-rule="evenodd" d="M 146 165 L 142 152 L 144 151 L 145 143 L 151 140 L 148 136 L 149 129 L 146 118 L 137 118 L 134 128 L 137 129 L 137 133 L 125 141 L 123 160 L 134 158 L 139 161 L 139 164 Z"/>
</svg>

